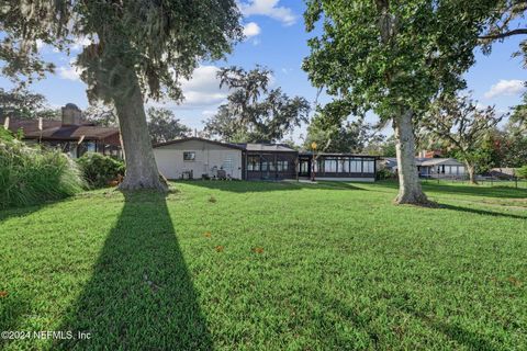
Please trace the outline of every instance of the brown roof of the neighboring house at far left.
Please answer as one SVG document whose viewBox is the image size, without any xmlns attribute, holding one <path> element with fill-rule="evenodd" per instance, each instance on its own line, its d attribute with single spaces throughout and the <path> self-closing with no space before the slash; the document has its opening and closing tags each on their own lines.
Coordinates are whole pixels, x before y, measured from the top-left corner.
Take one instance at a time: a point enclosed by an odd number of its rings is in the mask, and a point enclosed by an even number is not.
<svg viewBox="0 0 527 351">
<path fill-rule="evenodd" d="M 63 125 L 60 121 L 42 121 L 42 132 L 38 129 L 37 120 L 12 120 L 9 122 L 9 129 L 16 133 L 22 129 L 25 139 L 43 140 L 78 140 L 81 136 L 85 139 L 100 140 L 119 134 L 116 127 L 101 127 L 93 124 Z"/>
</svg>

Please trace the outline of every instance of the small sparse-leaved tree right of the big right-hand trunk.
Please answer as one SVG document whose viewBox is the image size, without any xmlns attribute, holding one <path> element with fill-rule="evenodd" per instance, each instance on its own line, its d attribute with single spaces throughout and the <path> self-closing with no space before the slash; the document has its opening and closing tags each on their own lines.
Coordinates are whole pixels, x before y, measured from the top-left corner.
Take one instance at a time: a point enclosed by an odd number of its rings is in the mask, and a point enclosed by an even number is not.
<svg viewBox="0 0 527 351">
<path fill-rule="evenodd" d="M 423 127 L 452 148 L 467 166 L 469 180 L 475 184 L 478 166 L 490 162 L 491 148 L 485 146 L 490 133 L 505 115 L 493 106 L 479 109 L 467 95 L 442 97 L 430 109 Z"/>
</svg>

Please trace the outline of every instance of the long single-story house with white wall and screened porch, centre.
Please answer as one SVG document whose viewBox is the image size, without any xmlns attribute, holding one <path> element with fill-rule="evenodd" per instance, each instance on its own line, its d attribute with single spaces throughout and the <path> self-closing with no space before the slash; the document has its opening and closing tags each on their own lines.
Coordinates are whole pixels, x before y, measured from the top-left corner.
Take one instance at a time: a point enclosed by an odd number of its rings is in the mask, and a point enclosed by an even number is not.
<svg viewBox="0 0 527 351">
<path fill-rule="evenodd" d="M 154 146 L 159 172 L 168 179 L 227 178 L 374 181 L 375 157 L 299 152 L 284 144 L 228 144 L 189 137 Z"/>
</svg>

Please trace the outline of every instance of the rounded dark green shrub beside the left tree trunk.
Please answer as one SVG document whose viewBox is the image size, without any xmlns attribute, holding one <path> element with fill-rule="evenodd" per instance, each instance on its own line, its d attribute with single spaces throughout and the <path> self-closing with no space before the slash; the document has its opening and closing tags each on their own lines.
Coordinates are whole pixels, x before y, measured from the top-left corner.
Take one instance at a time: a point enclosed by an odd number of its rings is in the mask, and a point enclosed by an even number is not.
<svg viewBox="0 0 527 351">
<path fill-rule="evenodd" d="M 77 163 L 91 188 L 108 186 L 119 174 L 124 176 L 124 163 L 110 156 L 87 152 L 77 159 Z"/>
</svg>

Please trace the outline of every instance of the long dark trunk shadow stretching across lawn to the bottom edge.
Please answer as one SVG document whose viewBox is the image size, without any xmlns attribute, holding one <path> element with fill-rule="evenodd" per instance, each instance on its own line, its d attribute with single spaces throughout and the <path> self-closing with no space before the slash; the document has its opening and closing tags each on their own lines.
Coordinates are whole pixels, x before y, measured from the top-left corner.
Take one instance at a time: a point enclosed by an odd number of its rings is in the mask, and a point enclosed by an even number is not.
<svg viewBox="0 0 527 351">
<path fill-rule="evenodd" d="M 91 338 L 55 341 L 54 349 L 213 349 L 162 195 L 125 194 L 92 276 L 59 330 Z"/>
</svg>

